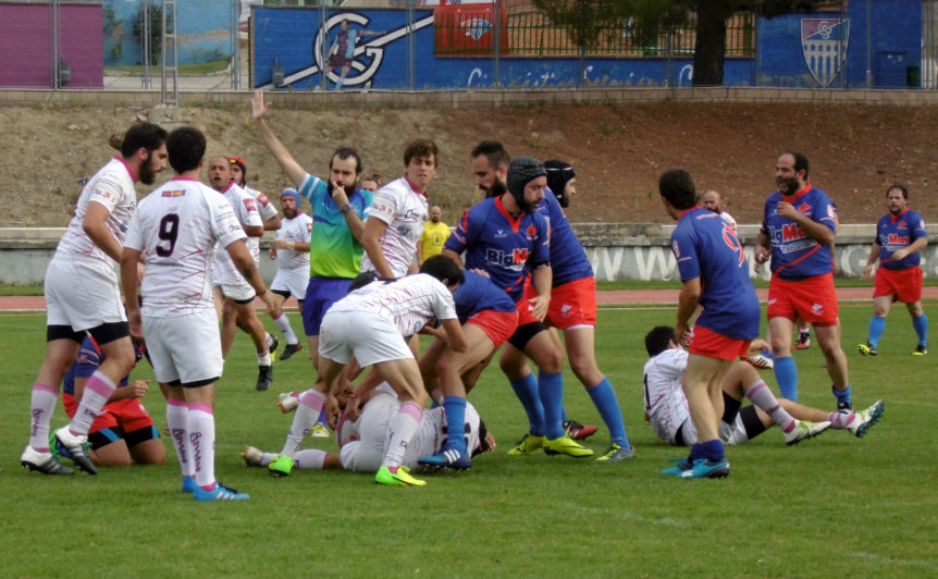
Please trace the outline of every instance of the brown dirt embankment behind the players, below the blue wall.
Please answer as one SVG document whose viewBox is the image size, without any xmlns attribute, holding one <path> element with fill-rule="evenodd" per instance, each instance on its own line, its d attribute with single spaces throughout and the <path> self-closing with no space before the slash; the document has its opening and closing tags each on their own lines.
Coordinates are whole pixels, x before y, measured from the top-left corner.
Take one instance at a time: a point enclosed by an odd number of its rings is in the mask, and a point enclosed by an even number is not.
<svg viewBox="0 0 938 579">
<path fill-rule="evenodd" d="M 257 137 L 245 107 L 231 108 L 0 108 L 5 145 L 0 155 L 0 226 L 64 225 L 90 176 L 114 153 L 112 133 L 137 119 L 190 123 L 209 137 L 209 156 L 238 155 L 251 186 L 276 193 L 288 185 Z M 308 171 L 324 175 L 332 150 L 356 147 L 365 172 L 386 181 L 403 170 L 404 144 L 433 138 L 441 150 L 431 200 L 444 221 L 478 198 L 469 151 L 480 140 L 505 143 L 511 155 L 570 162 L 580 195 L 571 221 L 668 222 L 657 178 L 675 165 L 691 171 L 698 189 L 716 189 L 741 223 L 761 221 L 774 190 L 775 161 L 787 149 L 811 161 L 812 182 L 837 201 L 841 222 L 873 223 L 885 211 L 886 187 L 899 182 L 926 220 L 938 171 L 938 109 L 863 104 L 522 106 L 456 110 L 279 110 L 270 124 Z M 162 173 L 158 184 L 169 178 Z M 145 188 L 140 188 L 144 193 Z"/>
</svg>

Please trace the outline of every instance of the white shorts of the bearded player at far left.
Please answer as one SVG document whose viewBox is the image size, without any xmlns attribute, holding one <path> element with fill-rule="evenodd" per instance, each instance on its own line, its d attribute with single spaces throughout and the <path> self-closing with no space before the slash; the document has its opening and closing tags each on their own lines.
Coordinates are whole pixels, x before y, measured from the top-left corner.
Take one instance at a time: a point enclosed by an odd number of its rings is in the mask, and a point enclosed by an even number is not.
<svg viewBox="0 0 938 579">
<path fill-rule="evenodd" d="M 46 324 L 75 332 L 127 321 L 118 273 L 95 259 L 55 259 L 46 269 Z"/>
</svg>

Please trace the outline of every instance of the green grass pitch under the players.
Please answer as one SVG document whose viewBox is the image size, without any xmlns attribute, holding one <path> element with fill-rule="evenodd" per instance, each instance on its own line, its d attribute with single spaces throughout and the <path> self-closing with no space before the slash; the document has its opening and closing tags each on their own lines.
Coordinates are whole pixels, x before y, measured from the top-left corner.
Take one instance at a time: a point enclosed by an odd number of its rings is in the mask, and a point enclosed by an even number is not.
<svg viewBox="0 0 938 579">
<path fill-rule="evenodd" d="M 938 306 L 926 307 L 938 320 Z M 674 309 L 602 310 L 600 367 L 615 385 L 638 457 L 625 464 L 505 453 L 527 428 L 497 367 L 470 399 L 498 448 L 470 471 L 428 477 L 422 489 L 383 488 L 372 477 L 245 468 L 245 444 L 277 451 L 289 416 L 276 394 L 312 382 L 308 353 L 276 362 L 274 385 L 255 392 L 250 342 L 238 335 L 217 395 L 219 479 L 251 494 L 196 504 L 168 464 L 51 478 L 18 465 L 27 442 L 29 385 L 41 362 L 44 318 L 4 316 L 0 358 L 0 569 L 4 577 L 483 577 L 523 576 L 936 576 L 935 356 L 910 355 L 915 336 L 893 309 L 876 358 L 862 358 L 871 305 L 841 309 L 854 405 L 886 401 L 861 440 L 829 431 L 794 447 L 769 430 L 728 448 L 726 480 L 681 481 L 658 471 L 683 449 L 644 422 L 641 370 L 649 328 Z M 293 313 L 299 329 L 298 316 Z M 269 324 L 270 325 L 270 324 Z M 933 332 L 934 333 L 934 332 Z M 801 402 L 834 407 L 815 346 L 794 353 Z M 144 364 L 134 375 L 151 377 Z M 772 372 L 763 377 L 775 387 Z M 566 374 L 568 415 L 601 423 Z M 156 384 L 145 404 L 162 430 Z M 53 427 L 65 423 L 61 406 Z M 307 443 L 326 449 L 332 440 Z M 588 441 L 597 453 L 604 428 Z"/>
</svg>

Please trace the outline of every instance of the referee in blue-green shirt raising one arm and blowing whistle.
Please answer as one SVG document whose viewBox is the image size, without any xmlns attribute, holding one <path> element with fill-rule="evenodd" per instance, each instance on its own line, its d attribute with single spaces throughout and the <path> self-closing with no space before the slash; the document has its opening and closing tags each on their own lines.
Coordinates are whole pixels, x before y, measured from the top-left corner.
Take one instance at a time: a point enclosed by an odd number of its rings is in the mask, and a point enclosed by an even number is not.
<svg viewBox="0 0 938 579">
<path fill-rule="evenodd" d="M 261 140 L 300 197 L 312 208 L 314 226 L 309 239 L 309 284 L 303 300 L 303 328 L 312 365 L 319 368 L 319 332 L 329 308 L 348 293 L 348 284 L 361 269 L 361 236 L 373 194 L 356 188 L 361 178 L 361 158 L 355 149 L 340 147 L 329 161 L 329 181 L 307 173 L 264 121 L 269 104 L 263 91 L 251 97 L 251 115 Z"/>
</svg>

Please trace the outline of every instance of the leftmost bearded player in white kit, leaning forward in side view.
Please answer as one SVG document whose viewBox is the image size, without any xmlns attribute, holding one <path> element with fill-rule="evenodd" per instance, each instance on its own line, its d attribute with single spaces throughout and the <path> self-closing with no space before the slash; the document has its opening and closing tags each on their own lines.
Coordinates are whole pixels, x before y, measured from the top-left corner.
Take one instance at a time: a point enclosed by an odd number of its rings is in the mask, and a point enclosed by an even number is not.
<svg viewBox="0 0 938 579">
<path fill-rule="evenodd" d="M 79 469 L 97 473 L 86 442 L 91 422 L 134 366 L 134 346 L 114 271 L 121 259 L 126 223 L 137 207 L 134 183 L 151 185 L 166 167 L 166 132 L 151 123 L 132 126 L 121 155 L 85 185 L 75 214 L 46 270 L 46 357 L 33 383 L 29 444 L 20 463 L 45 475 L 71 475 L 59 464 L 70 458 Z M 49 423 L 59 384 L 89 333 L 104 361 L 88 379 L 82 403 L 69 426 L 49 439 Z M 50 447 L 50 444 L 53 447 Z"/>
</svg>

